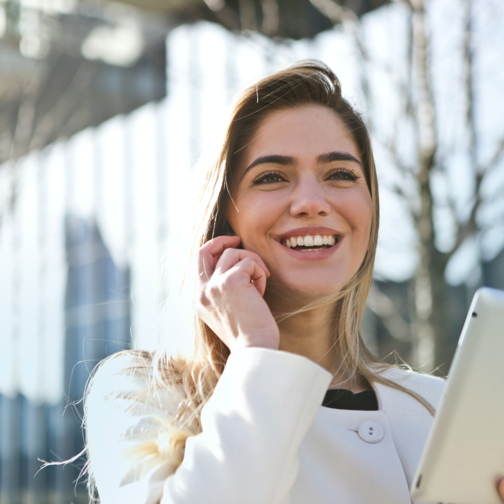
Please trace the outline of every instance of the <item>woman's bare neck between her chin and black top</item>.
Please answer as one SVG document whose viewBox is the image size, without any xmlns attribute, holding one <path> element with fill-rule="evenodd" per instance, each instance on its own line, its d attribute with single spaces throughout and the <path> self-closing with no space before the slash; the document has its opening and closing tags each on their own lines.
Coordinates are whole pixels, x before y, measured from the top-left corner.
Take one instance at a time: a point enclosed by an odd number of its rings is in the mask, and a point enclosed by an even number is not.
<svg viewBox="0 0 504 504">
<path fill-rule="evenodd" d="M 272 312 L 291 313 L 314 300 L 304 300 L 296 306 L 280 307 L 271 292 L 265 296 Z M 282 296 L 285 300 L 285 297 Z M 278 299 L 277 299 L 278 301 Z M 280 330 L 280 350 L 307 357 L 333 374 L 330 388 L 342 388 L 354 393 L 369 389 L 369 384 L 361 376 L 352 376 L 350 369 L 342 365 L 342 359 L 335 345 L 334 302 L 321 303 L 300 313 L 294 313 L 278 322 Z"/>
</svg>

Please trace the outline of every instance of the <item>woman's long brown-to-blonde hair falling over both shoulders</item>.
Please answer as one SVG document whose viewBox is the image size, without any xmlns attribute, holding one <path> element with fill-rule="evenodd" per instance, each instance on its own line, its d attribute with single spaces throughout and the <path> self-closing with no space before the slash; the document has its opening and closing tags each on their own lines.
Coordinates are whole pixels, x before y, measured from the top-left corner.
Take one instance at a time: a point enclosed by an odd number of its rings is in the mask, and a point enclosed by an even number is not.
<svg viewBox="0 0 504 504">
<path fill-rule="evenodd" d="M 225 216 L 230 198 L 231 175 L 240 162 L 244 148 L 264 118 L 275 110 L 306 104 L 326 106 L 345 122 L 359 149 L 373 203 L 365 258 L 350 282 L 331 301 L 334 305 L 334 346 L 341 359 L 340 365 L 370 383 L 387 385 L 413 396 L 433 413 L 432 406 L 425 399 L 383 375 L 383 371 L 390 366 L 377 361 L 362 339 L 362 316 L 372 281 L 379 225 L 376 170 L 366 125 L 342 97 L 336 75 L 322 62 L 296 62 L 261 79 L 239 95 L 231 112 L 220 153 L 209 167 L 203 183 L 199 198 L 201 219 L 195 227 L 193 252 L 215 236 L 232 233 Z M 201 431 L 201 409 L 212 396 L 224 370 L 229 349 L 197 316 L 194 319 L 194 337 L 192 356 L 172 355 L 165 350 L 137 352 L 137 363 L 129 368 L 129 371 L 136 372 L 142 367 L 143 372 L 147 370 L 150 376 L 149 387 L 167 387 L 180 397 L 178 411 L 165 427 L 168 432 L 164 437 L 165 443 L 161 447 L 154 440 L 139 449 L 138 453 L 142 457 L 164 453 L 169 454 L 175 464 L 180 463 L 186 438 Z M 135 353 L 130 353 L 132 352 Z M 92 380 L 88 390 L 91 383 Z M 92 490 L 92 474 L 89 474 L 88 484 Z"/>
</svg>

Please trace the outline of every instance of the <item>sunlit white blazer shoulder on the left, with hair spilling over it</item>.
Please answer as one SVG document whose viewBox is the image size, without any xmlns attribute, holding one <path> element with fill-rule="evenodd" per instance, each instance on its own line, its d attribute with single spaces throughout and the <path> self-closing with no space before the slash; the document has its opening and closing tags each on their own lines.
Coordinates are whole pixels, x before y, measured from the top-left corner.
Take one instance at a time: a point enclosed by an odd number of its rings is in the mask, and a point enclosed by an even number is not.
<svg viewBox="0 0 504 504">
<path fill-rule="evenodd" d="M 127 351 L 97 366 L 85 401 L 90 470 L 106 494 L 171 460 L 160 434 L 171 431 L 180 398 L 153 380 L 152 355 Z"/>
</svg>

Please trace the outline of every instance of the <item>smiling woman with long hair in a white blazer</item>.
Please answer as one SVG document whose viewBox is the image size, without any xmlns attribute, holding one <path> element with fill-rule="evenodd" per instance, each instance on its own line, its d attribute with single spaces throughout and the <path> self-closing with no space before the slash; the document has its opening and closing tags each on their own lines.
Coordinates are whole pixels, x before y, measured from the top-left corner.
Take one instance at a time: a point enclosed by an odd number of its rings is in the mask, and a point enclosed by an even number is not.
<svg viewBox="0 0 504 504">
<path fill-rule="evenodd" d="M 103 504 L 410 502 L 445 382 L 362 342 L 376 173 L 325 65 L 239 97 L 201 204 L 194 355 L 100 365 L 91 489 Z"/>
</svg>

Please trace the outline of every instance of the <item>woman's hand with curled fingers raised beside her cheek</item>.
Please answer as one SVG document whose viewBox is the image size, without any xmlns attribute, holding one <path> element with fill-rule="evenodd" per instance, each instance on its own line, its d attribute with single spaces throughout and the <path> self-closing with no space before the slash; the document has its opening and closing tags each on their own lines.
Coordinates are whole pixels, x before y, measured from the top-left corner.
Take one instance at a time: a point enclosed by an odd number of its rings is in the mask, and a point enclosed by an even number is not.
<svg viewBox="0 0 504 504">
<path fill-rule="evenodd" d="M 235 248 L 240 241 L 218 236 L 200 248 L 196 312 L 231 351 L 278 349 L 278 327 L 262 297 L 270 273 L 257 254 Z"/>
</svg>

